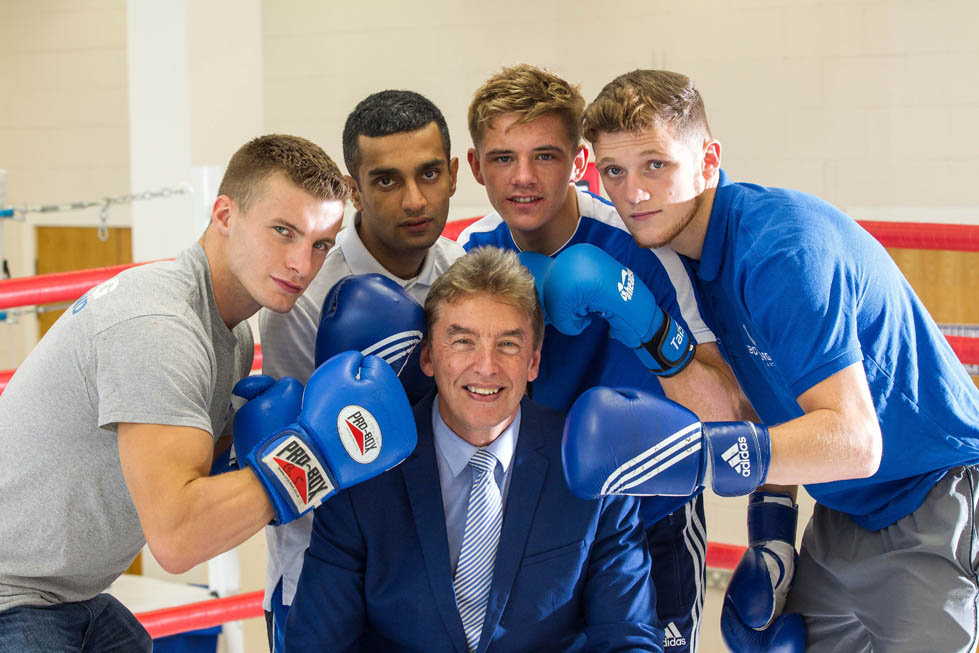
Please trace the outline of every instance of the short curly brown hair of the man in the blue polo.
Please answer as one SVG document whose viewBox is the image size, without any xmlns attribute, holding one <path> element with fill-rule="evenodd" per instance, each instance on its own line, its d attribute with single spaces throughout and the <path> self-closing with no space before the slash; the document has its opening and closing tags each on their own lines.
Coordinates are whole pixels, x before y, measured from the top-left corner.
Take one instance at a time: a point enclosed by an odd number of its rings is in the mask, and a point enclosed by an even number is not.
<svg viewBox="0 0 979 653">
<path fill-rule="evenodd" d="M 662 126 L 677 138 L 710 138 L 704 100 L 686 75 L 633 70 L 606 84 L 585 109 L 585 138 L 592 143 L 601 132 L 641 134 Z"/>
</svg>

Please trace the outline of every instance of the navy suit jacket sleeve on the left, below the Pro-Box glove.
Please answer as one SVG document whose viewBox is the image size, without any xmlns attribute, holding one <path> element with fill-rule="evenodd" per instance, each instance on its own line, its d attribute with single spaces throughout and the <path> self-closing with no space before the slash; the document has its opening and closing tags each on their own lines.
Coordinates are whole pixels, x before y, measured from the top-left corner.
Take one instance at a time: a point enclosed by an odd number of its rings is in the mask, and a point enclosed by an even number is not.
<svg viewBox="0 0 979 653">
<path fill-rule="evenodd" d="M 350 492 L 316 509 L 289 616 L 286 651 L 352 651 L 366 627 L 366 547 Z"/>
</svg>

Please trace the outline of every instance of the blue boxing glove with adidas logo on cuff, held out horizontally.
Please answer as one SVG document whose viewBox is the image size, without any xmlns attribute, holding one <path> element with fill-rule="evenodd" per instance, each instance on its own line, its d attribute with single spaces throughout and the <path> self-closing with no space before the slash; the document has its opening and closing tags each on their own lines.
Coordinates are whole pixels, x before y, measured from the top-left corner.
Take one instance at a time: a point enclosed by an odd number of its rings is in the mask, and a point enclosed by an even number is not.
<svg viewBox="0 0 979 653">
<path fill-rule="evenodd" d="M 568 411 L 561 458 L 568 487 L 582 499 L 689 496 L 707 485 L 739 496 L 765 482 L 771 441 L 760 424 L 703 424 L 669 399 L 597 386 Z"/>
</svg>

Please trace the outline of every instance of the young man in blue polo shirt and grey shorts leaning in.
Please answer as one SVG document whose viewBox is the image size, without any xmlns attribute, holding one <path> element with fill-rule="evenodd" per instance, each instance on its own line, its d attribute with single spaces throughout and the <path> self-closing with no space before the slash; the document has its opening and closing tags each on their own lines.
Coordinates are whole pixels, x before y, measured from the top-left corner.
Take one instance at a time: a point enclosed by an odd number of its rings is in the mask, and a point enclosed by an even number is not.
<svg viewBox="0 0 979 653">
<path fill-rule="evenodd" d="M 729 647 L 973 650 L 979 391 L 887 252 L 815 197 L 732 183 L 684 75 L 616 78 L 584 133 L 636 241 L 696 271 L 769 427 L 769 485 L 749 500 L 725 597 Z M 817 505 L 796 563 L 800 483 Z"/>
</svg>

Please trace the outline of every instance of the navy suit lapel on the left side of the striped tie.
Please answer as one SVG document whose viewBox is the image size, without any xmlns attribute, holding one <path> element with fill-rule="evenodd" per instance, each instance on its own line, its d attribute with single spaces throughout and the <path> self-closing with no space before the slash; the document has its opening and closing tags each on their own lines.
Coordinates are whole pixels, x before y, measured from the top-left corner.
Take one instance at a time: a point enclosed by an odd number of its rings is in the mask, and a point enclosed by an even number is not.
<svg viewBox="0 0 979 653">
<path fill-rule="evenodd" d="M 452 588 L 449 545 L 445 534 L 445 508 L 442 506 L 442 486 L 435 461 L 431 415 L 432 400 L 429 396 L 415 407 L 418 445 L 414 454 L 401 464 L 401 473 L 421 542 L 428 580 L 435 596 L 435 605 L 456 649 L 468 651 L 466 633 L 462 628 L 462 618 L 459 616 L 455 591 Z"/>
</svg>

